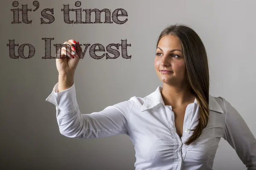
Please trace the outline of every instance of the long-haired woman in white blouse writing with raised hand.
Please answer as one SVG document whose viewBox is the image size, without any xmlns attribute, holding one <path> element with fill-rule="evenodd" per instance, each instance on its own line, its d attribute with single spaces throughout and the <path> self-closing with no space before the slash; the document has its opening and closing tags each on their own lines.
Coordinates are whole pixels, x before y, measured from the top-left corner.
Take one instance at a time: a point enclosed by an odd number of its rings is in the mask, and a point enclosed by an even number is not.
<svg viewBox="0 0 256 170">
<path fill-rule="evenodd" d="M 91 114 L 81 114 L 76 101 L 79 42 L 64 44 L 76 48 L 61 48 L 61 57 L 73 58 L 56 59 L 58 83 L 46 99 L 56 106 L 64 136 L 126 134 L 134 144 L 136 170 L 212 170 L 223 137 L 248 170 L 256 170 L 256 139 L 229 102 L 209 95 L 207 53 L 188 26 L 168 26 L 157 41 L 154 66 L 163 87 Z"/>
</svg>

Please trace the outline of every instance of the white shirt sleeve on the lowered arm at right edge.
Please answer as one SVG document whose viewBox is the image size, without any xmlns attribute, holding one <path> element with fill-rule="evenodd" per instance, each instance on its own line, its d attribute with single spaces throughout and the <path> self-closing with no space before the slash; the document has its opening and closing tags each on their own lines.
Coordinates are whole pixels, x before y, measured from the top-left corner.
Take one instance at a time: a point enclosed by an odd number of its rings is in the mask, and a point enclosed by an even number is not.
<svg viewBox="0 0 256 170">
<path fill-rule="evenodd" d="M 238 111 L 226 100 L 224 139 L 236 150 L 247 170 L 256 170 L 256 139 Z"/>
</svg>

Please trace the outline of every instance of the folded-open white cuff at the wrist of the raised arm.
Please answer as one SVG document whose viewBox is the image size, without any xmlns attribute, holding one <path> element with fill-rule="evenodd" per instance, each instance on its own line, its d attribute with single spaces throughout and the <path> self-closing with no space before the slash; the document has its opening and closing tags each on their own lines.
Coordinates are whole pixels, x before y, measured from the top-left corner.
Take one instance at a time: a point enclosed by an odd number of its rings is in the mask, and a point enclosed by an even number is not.
<svg viewBox="0 0 256 170">
<path fill-rule="evenodd" d="M 74 111 L 78 106 L 76 101 L 76 88 L 75 82 L 73 85 L 59 93 L 58 92 L 58 82 L 53 87 L 52 93 L 47 97 L 46 101 L 51 102 L 56 106 L 59 111 L 70 112 Z"/>
</svg>

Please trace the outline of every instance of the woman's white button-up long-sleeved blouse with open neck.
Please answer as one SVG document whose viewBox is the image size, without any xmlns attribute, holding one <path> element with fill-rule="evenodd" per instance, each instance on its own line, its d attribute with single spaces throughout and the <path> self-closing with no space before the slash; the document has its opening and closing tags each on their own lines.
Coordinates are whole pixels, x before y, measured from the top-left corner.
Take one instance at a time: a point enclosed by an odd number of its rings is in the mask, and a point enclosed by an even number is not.
<svg viewBox="0 0 256 170">
<path fill-rule="evenodd" d="M 136 170 L 212 170 L 218 143 L 223 137 L 236 150 L 248 170 L 256 170 L 256 139 L 241 115 L 223 97 L 209 95 L 209 121 L 200 137 L 186 145 L 200 118 L 195 99 L 185 112 L 183 136 L 176 133 L 172 106 L 164 105 L 157 89 L 106 107 L 81 114 L 75 83 L 58 92 L 58 83 L 46 101 L 56 106 L 60 133 L 70 138 L 101 138 L 126 134 L 134 144 Z"/>
</svg>

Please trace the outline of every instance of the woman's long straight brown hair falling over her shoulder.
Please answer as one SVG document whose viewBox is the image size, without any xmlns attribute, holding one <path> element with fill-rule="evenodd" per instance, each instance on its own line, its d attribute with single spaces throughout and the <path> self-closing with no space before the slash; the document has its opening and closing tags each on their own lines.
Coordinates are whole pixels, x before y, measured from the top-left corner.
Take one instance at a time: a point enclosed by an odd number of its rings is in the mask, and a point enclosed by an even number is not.
<svg viewBox="0 0 256 170">
<path fill-rule="evenodd" d="M 200 106 L 200 118 L 192 136 L 185 142 L 189 145 L 201 135 L 209 119 L 209 68 L 206 49 L 198 34 L 186 25 L 171 25 L 165 28 L 157 41 L 166 35 L 177 37 L 183 49 L 183 56 L 186 66 L 186 78 L 189 82 L 189 88 L 195 95 Z"/>
</svg>

